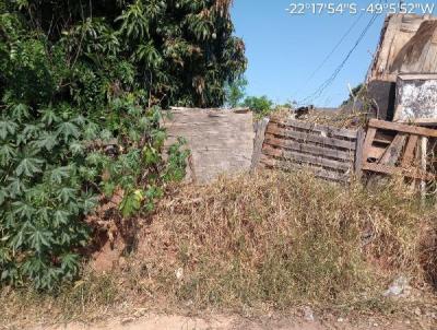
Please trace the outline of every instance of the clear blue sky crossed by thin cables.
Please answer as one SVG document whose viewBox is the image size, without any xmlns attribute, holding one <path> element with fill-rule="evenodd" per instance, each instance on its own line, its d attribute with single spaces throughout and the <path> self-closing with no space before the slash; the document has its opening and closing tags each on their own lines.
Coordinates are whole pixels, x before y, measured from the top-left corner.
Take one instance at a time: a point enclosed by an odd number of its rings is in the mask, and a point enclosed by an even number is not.
<svg viewBox="0 0 437 330">
<path fill-rule="evenodd" d="M 275 103 L 300 101 L 311 95 L 343 61 L 373 16 L 370 13 L 292 15 L 285 10 L 291 2 L 352 3 L 347 0 L 234 0 L 232 14 L 235 34 L 245 40 L 246 56 L 249 60 L 246 72 L 249 82 L 248 95 L 268 95 Z M 377 2 L 355 1 L 359 7 Z M 376 51 L 383 19 L 383 14 L 378 15 L 333 83 L 319 98 L 311 99 L 311 104 L 338 106 L 347 97 L 349 84 L 355 86 L 364 81 Z M 342 45 L 309 80 L 315 69 L 353 24 L 354 28 Z"/>
</svg>

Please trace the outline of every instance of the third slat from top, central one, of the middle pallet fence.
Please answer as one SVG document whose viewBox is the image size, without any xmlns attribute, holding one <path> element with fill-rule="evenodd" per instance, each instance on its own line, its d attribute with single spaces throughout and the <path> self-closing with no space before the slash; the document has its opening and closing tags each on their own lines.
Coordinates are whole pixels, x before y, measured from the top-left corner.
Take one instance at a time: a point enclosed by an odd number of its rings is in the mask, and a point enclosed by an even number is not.
<svg viewBox="0 0 437 330">
<path fill-rule="evenodd" d="M 320 155 L 343 161 L 351 161 L 353 158 L 353 153 L 347 151 L 318 146 L 310 143 L 300 143 L 294 140 L 276 139 L 272 134 L 265 134 L 264 143 L 272 146 L 279 146 L 283 149 L 310 153 L 312 155 Z"/>
</svg>

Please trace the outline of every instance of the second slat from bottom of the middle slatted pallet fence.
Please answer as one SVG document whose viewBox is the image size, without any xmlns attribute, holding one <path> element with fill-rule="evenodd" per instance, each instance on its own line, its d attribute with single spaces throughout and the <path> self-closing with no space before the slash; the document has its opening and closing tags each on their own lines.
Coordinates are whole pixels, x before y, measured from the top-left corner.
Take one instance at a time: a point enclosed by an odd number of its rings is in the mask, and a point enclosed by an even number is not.
<svg viewBox="0 0 437 330">
<path fill-rule="evenodd" d="M 285 160 L 288 160 L 292 162 L 303 162 L 303 163 L 320 165 L 320 166 L 326 166 L 326 167 L 335 168 L 335 169 L 349 170 L 351 168 L 350 163 L 332 161 L 332 160 L 323 158 L 320 156 L 312 156 L 312 155 L 303 154 L 303 153 L 293 152 L 293 151 L 285 151 L 282 149 L 274 149 L 270 145 L 264 145 L 264 148 L 262 149 L 262 153 L 264 155 L 269 155 L 269 156 L 273 156 L 273 157 L 282 157 L 282 158 L 285 158 Z"/>
</svg>

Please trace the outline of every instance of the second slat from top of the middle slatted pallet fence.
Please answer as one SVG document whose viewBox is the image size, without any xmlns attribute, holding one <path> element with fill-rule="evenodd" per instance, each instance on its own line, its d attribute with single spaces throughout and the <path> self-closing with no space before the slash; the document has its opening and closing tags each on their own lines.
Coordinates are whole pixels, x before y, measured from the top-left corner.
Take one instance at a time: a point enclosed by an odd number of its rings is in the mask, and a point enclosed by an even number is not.
<svg viewBox="0 0 437 330">
<path fill-rule="evenodd" d="M 339 140 L 333 138 L 324 138 L 321 135 L 315 135 L 309 133 L 296 132 L 293 130 L 279 128 L 277 125 L 270 123 L 267 128 L 267 132 L 274 135 L 292 138 L 302 141 L 309 141 L 314 143 L 320 143 L 322 145 L 332 145 L 336 148 L 343 148 L 346 150 L 355 150 L 355 142 Z"/>
</svg>

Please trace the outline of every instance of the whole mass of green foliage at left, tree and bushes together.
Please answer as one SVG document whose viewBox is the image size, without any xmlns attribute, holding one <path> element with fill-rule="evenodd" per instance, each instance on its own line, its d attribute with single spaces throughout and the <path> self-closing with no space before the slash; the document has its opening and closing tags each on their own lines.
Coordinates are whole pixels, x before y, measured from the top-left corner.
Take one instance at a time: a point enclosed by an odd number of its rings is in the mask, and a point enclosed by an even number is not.
<svg viewBox="0 0 437 330">
<path fill-rule="evenodd" d="M 184 177 L 160 105 L 223 102 L 245 67 L 228 5 L 0 0 L 0 283 L 72 279 L 96 196 L 130 216 Z"/>
</svg>

